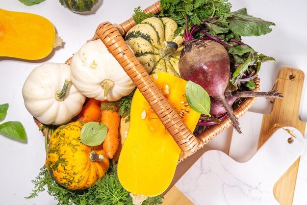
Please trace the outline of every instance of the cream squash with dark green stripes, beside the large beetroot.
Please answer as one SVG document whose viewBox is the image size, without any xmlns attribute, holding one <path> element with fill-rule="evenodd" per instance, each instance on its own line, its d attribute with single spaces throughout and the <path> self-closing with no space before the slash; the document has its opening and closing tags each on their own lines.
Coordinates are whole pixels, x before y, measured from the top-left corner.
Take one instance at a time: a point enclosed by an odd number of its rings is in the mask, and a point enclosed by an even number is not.
<svg viewBox="0 0 307 205">
<path fill-rule="evenodd" d="M 148 73 L 167 72 L 179 77 L 183 29 L 177 28 L 173 19 L 151 17 L 133 26 L 125 41 Z"/>
</svg>

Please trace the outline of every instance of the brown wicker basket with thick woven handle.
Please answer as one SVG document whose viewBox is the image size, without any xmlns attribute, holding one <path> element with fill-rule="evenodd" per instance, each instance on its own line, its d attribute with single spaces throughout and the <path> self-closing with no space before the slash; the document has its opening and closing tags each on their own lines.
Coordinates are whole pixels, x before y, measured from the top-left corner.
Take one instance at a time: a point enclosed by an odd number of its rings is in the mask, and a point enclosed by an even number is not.
<svg viewBox="0 0 307 205">
<path fill-rule="evenodd" d="M 157 1 L 143 12 L 157 14 L 160 11 L 160 2 Z M 190 129 L 183 123 L 179 114 L 172 108 L 158 87 L 154 84 L 152 78 L 145 71 L 133 52 L 130 51 L 122 37 L 135 25 L 133 18 L 128 19 L 120 25 L 113 25 L 109 22 L 102 23 L 97 27 L 94 37 L 89 41 L 101 39 L 108 51 L 121 64 L 125 72 L 151 105 L 165 128 L 179 145 L 182 151 L 179 158 L 180 162 L 187 156 L 195 153 L 198 149 L 204 147 L 206 143 L 224 129 L 230 127 L 231 121 L 230 118 L 226 118 L 221 124 L 210 126 L 197 137 L 194 136 Z M 71 60 L 72 57 L 69 58 L 66 63 L 70 64 Z M 254 82 L 256 84 L 254 91 L 258 92 L 260 90 L 259 78 L 256 78 Z M 242 116 L 252 106 L 255 100 L 255 98 L 247 98 L 243 103 L 240 103 L 239 106 L 233 110 L 235 116 L 237 118 Z M 40 122 L 37 120 L 35 122 L 40 125 Z"/>
</svg>

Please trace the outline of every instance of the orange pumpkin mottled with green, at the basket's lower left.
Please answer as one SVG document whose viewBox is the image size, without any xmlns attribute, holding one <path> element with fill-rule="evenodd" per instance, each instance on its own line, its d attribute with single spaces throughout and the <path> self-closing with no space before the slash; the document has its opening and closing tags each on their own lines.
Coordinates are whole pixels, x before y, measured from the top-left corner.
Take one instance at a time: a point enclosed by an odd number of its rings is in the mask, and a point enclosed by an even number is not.
<svg viewBox="0 0 307 205">
<path fill-rule="evenodd" d="M 77 121 L 63 125 L 50 138 L 46 167 L 52 178 L 67 189 L 86 189 L 109 168 L 102 145 L 91 147 L 80 142 L 84 124 Z"/>
</svg>

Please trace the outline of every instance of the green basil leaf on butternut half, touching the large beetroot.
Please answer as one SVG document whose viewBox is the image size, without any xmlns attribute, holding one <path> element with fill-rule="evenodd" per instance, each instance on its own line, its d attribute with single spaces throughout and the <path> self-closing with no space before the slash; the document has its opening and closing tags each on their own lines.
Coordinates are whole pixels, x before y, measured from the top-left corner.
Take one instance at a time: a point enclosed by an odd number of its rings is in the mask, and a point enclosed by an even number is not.
<svg viewBox="0 0 307 205">
<path fill-rule="evenodd" d="M 209 113 L 210 97 L 202 86 L 189 80 L 185 85 L 185 97 L 193 110 L 211 116 Z"/>
</svg>

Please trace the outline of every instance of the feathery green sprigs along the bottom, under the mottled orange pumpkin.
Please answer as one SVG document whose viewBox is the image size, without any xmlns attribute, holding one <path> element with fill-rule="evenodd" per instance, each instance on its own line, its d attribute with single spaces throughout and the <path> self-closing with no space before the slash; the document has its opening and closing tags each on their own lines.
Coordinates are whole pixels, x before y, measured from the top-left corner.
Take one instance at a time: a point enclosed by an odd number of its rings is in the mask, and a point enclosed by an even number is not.
<svg viewBox="0 0 307 205">
<path fill-rule="evenodd" d="M 44 165 L 36 179 L 32 180 L 35 189 L 26 199 L 32 199 L 47 189 L 58 201 L 57 205 L 133 205 L 129 192 L 120 184 L 117 165 L 110 164 L 108 172 L 87 190 L 69 190 L 57 184 Z M 142 205 L 160 205 L 163 197 L 149 197 Z"/>
</svg>

